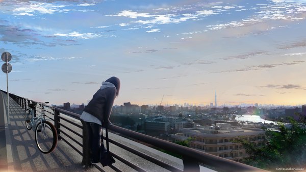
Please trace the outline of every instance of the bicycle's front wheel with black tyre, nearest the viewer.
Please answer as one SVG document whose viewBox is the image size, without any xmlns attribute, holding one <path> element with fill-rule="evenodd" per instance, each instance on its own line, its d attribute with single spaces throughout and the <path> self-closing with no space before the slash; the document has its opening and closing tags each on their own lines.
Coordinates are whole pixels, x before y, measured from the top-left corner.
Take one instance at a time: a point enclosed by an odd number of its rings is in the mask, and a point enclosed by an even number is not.
<svg viewBox="0 0 306 172">
<path fill-rule="evenodd" d="M 35 129 L 35 141 L 40 152 L 44 154 L 53 152 L 58 141 L 54 125 L 49 121 L 39 122 Z"/>
</svg>

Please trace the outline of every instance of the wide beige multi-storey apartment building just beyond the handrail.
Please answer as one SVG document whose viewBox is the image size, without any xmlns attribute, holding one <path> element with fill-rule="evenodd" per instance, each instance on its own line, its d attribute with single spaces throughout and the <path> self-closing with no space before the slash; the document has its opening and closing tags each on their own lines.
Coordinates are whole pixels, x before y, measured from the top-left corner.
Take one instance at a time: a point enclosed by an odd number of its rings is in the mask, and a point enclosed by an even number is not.
<svg viewBox="0 0 306 172">
<path fill-rule="evenodd" d="M 234 128 L 231 124 L 217 123 L 216 126 L 182 129 L 182 133 L 171 135 L 174 140 L 192 138 L 190 148 L 219 157 L 240 161 L 247 157 L 241 143 L 235 142 L 244 137 L 260 146 L 265 139 L 265 132 L 255 128 Z"/>
</svg>

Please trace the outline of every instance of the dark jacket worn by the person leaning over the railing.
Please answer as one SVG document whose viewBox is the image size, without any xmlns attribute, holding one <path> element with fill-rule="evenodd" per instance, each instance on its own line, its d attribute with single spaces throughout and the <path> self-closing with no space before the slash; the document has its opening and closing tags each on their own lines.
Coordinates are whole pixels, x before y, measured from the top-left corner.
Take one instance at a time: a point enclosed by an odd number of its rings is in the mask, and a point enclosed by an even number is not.
<svg viewBox="0 0 306 172">
<path fill-rule="evenodd" d="M 100 119 L 102 124 L 107 124 L 113 108 L 116 91 L 115 87 L 99 89 L 93 95 L 92 100 L 85 107 L 84 111 Z"/>
</svg>

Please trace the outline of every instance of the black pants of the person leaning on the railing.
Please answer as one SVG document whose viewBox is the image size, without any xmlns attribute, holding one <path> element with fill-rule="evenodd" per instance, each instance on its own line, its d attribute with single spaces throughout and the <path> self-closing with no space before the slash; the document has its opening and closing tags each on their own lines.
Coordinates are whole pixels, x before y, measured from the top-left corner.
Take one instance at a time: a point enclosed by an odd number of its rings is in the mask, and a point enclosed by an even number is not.
<svg viewBox="0 0 306 172">
<path fill-rule="evenodd" d="M 101 126 L 93 123 L 87 122 L 88 134 L 89 134 L 89 145 L 91 150 L 91 162 L 97 163 L 100 162 L 100 145 L 101 145 Z"/>
</svg>

